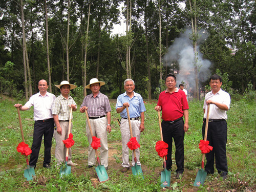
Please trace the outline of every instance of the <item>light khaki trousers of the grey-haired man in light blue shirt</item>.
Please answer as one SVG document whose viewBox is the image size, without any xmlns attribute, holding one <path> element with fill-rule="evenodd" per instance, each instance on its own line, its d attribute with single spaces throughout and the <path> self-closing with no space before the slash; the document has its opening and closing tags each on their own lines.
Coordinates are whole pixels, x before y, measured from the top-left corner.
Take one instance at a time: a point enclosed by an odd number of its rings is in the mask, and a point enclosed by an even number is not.
<svg viewBox="0 0 256 192">
<path fill-rule="evenodd" d="M 131 120 L 132 125 L 132 131 L 133 131 L 133 137 L 136 137 L 138 143 L 140 142 L 140 120 Z M 123 167 L 130 167 L 129 163 L 129 147 L 127 146 L 127 143 L 129 142 L 131 138 L 130 128 L 129 128 L 129 121 L 128 119 L 121 119 L 121 125 L 120 125 L 121 135 L 122 135 L 122 153 L 123 153 Z M 136 158 L 137 158 L 137 165 L 140 165 L 140 150 L 137 148 L 135 150 Z M 132 165 L 134 166 L 134 155 L 132 152 Z"/>
</svg>

